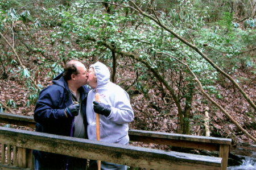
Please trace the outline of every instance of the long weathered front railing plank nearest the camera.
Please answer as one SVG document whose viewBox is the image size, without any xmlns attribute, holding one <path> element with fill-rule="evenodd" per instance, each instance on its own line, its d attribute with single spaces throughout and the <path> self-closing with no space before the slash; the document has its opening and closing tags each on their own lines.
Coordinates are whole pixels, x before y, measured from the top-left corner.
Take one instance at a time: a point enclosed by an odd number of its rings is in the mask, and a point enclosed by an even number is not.
<svg viewBox="0 0 256 170">
<path fill-rule="evenodd" d="M 220 169 L 221 158 L 0 127 L 0 142 L 149 169 Z"/>
</svg>

